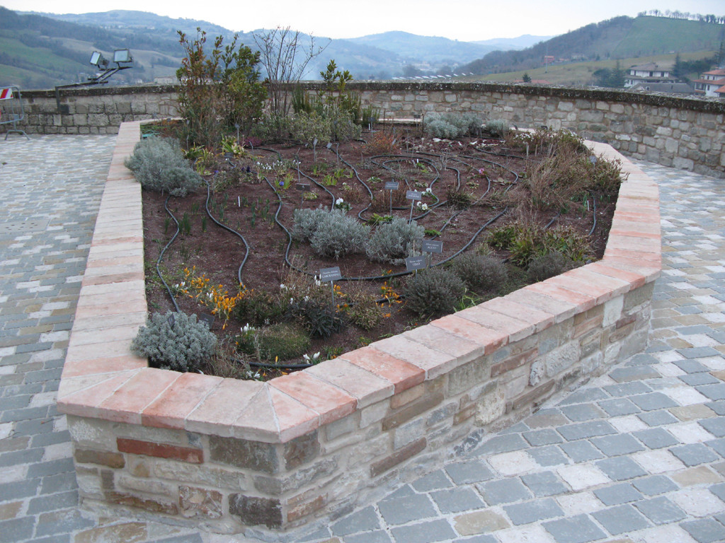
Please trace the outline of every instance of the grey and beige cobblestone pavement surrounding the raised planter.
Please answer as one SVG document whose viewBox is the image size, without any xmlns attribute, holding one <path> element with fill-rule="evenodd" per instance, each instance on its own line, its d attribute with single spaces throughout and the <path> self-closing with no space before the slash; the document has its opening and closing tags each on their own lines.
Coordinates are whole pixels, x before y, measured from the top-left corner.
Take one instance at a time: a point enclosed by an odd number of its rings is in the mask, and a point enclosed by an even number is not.
<svg viewBox="0 0 725 543">
<path fill-rule="evenodd" d="M 0 142 L 0 543 L 247 542 L 78 508 L 54 400 L 113 140 Z M 647 352 L 295 541 L 725 542 L 725 181 L 640 166 L 664 245 Z"/>
</svg>

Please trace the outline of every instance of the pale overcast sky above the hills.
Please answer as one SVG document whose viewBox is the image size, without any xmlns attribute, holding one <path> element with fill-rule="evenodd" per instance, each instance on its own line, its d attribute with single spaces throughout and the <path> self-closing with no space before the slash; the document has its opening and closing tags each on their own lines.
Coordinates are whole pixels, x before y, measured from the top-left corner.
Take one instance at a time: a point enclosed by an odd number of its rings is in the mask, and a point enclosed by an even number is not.
<svg viewBox="0 0 725 543">
<path fill-rule="evenodd" d="M 16 11 L 107 12 L 131 9 L 204 20 L 230 30 L 291 26 L 328 38 L 357 38 L 388 30 L 460 41 L 557 35 L 617 15 L 649 9 L 725 14 L 723 0 L 0 0 Z"/>
</svg>

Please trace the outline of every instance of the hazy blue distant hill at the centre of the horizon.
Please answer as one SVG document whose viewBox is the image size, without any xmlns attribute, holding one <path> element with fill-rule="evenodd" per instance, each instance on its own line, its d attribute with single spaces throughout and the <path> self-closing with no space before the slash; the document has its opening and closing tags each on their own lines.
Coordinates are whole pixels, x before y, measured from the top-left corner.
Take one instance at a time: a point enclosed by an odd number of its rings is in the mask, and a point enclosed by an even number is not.
<svg viewBox="0 0 725 543">
<path fill-rule="evenodd" d="M 463 64 L 497 49 L 494 46 L 410 34 L 399 30 L 351 38 L 348 41 L 391 51 L 409 62 L 426 62 L 431 65 Z"/>
</svg>

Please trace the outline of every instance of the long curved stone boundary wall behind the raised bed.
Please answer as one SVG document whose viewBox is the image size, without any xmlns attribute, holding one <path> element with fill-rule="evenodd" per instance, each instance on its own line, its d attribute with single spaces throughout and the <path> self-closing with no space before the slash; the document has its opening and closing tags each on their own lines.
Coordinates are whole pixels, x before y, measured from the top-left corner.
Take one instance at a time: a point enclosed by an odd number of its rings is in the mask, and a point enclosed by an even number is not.
<svg viewBox="0 0 725 543">
<path fill-rule="evenodd" d="M 305 83 L 310 91 L 319 83 Z M 725 100 L 597 88 L 502 83 L 352 82 L 363 104 L 388 117 L 473 111 L 520 128 L 568 128 L 627 156 L 725 177 Z M 23 93 L 28 133 L 116 133 L 121 122 L 178 115 L 174 85 L 65 89 L 65 113 L 52 90 Z"/>
</svg>

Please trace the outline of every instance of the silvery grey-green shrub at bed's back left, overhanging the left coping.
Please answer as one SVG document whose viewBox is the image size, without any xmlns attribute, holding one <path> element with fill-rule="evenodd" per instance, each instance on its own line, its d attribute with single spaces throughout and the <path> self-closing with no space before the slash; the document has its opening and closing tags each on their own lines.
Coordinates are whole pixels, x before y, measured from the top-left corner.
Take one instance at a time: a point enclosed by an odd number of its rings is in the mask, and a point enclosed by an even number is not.
<svg viewBox="0 0 725 543">
<path fill-rule="evenodd" d="M 124 162 L 146 190 L 186 196 L 202 178 L 183 158 L 177 140 L 146 138 L 136 143 L 133 155 Z"/>
</svg>

